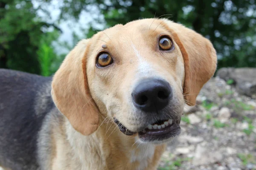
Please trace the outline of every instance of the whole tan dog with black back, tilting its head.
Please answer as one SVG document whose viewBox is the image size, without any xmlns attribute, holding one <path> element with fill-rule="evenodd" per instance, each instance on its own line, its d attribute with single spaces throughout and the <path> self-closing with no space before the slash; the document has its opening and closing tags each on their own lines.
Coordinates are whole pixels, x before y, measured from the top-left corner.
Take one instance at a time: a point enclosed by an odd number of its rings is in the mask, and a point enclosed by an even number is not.
<svg viewBox="0 0 256 170">
<path fill-rule="evenodd" d="M 81 40 L 53 77 L 0 70 L 5 170 L 156 170 L 216 70 L 212 43 L 168 19 Z"/>
</svg>

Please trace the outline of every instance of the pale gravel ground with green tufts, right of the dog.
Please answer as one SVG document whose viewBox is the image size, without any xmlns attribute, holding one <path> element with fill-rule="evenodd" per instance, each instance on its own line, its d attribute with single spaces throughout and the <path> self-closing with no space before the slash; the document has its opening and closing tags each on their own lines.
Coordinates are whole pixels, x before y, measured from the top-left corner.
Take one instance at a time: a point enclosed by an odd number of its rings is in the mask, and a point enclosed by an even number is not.
<svg viewBox="0 0 256 170">
<path fill-rule="evenodd" d="M 185 107 L 182 134 L 168 145 L 158 169 L 256 170 L 256 99 L 215 77 L 197 103 Z"/>
</svg>

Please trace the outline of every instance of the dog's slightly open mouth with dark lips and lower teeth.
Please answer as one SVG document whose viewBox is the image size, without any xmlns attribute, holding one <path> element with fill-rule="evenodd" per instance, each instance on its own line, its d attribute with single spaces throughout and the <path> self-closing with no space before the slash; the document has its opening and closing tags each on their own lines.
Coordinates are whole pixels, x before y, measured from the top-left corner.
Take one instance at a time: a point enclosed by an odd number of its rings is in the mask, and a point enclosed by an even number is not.
<svg viewBox="0 0 256 170">
<path fill-rule="evenodd" d="M 128 130 L 116 118 L 114 118 L 114 122 L 125 135 L 131 136 L 138 133 L 140 140 L 143 142 L 163 141 L 178 136 L 181 132 L 180 121 L 174 121 L 173 119 L 160 120 L 153 124 L 148 124 L 145 129 L 139 132 Z"/>
</svg>

